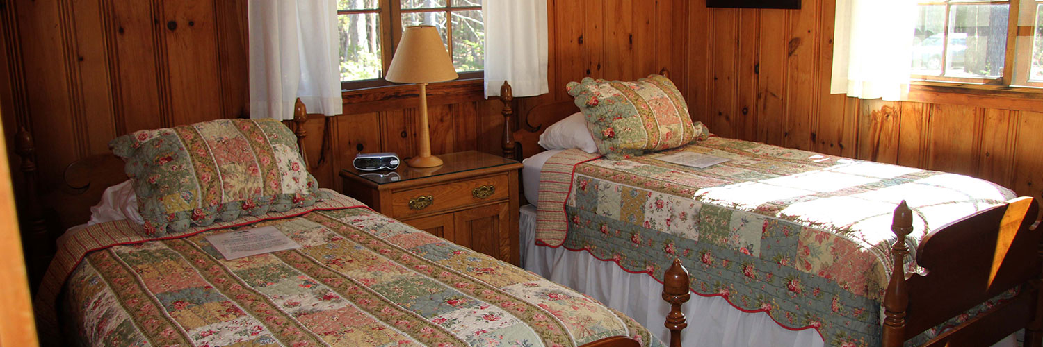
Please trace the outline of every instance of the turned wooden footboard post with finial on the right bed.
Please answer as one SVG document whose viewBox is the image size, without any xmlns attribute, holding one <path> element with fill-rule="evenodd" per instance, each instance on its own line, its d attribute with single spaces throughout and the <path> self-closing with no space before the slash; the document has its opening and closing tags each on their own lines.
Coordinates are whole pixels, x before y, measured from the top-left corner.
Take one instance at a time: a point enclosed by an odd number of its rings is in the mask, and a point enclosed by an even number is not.
<svg viewBox="0 0 1043 347">
<path fill-rule="evenodd" d="M 905 341 L 905 309 L 908 307 L 908 292 L 905 289 L 905 255 L 909 246 L 905 237 L 913 232 L 913 210 L 902 200 L 895 207 L 891 231 L 898 238 L 891 246 L 891 281 L 883 295 L 883 347 L 900 347 Z"/>
</svg>

